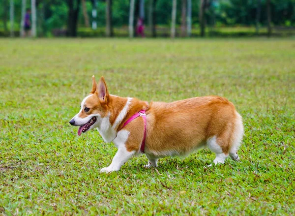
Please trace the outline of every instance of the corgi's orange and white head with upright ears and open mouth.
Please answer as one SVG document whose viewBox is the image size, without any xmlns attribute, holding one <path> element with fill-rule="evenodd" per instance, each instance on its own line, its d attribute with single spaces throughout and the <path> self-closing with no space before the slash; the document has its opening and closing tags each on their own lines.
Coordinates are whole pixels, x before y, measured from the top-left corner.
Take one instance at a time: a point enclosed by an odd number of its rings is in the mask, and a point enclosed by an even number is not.
<svg viewBox="0 0 295 216">
<path fill-rule="evenodd" d="M 98 84 L 92 76 L 92 90 L 81 103 L 80 112 L 74 116 L 70 124 L 80 126 L 78 135 L 97 127 L 100 120 L 108 115 L 108 100 L 110 94 L 108 92 L 106 81 L 103 77 L 99 79 Z"/>
</svg>

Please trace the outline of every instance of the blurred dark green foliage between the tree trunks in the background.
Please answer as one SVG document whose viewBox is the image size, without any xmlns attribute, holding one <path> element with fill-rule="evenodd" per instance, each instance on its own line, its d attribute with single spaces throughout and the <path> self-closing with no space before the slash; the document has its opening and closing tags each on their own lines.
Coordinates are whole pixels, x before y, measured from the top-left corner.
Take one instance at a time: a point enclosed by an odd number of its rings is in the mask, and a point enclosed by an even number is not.
<svg viewBox="0 0 295 216">
<path fill-rule="evenodd" d="M 9 36 L 9 5 L 11 0 L 0 1 L 0 36 Z M 83 0 L 82 0 L 83 1 Z M 68 29 L 69 2 L 80 7 L 77 21 L 77 36 L 105 36 L 106 1 L 97 0 L 96 18 L 92 18 L 94 0 L 85 0 L 89 22 L 95 19 L 97 29 L 87 27 L 81 9 L 81 0 L 36 0 L 37 34 L 38 36 L 64 36 Z M 145 25 L 148 27 L 149 1 L 145 0 Z M 154 0 L 155 28 L 157 36 L 169 36 L 171 25 L 172 0 Z M 199 35 L 199 12 L 202 0 L 192 0 L 192 36 Z M 209 5 L 205 11 L 207 35 L 241 36 L 254 35 L 257 25 L 257 8 L 260 2 L 260 33 L 266 33 L 267 0 L 207 0 Z M 19 34 L 21 23 L 22 0 L 14 2 L 14 31 Z M 30 8 L 30 0 L 26 1 L 26 8 Z M 130 0 L 112 0 L 112 26 L 115 36 L 128 35 Z M 177 0 L 176 28 L 180 31 L 181 0 Z M 139 0 L 135 1 L 135 23 L 139 16 Z M 271 26 L 273 33 L 285 32 L 292 34 L 295 28 L 295 0 L 270 0 Z M 278 31 L 277 31 L 278 30 Z M 146 28 L 146 35 L 151 33 Z M 73 36 L 73 35 L 72 35 Z M 74 35 L 76 36 L 76 35 Z"/>
</svg>

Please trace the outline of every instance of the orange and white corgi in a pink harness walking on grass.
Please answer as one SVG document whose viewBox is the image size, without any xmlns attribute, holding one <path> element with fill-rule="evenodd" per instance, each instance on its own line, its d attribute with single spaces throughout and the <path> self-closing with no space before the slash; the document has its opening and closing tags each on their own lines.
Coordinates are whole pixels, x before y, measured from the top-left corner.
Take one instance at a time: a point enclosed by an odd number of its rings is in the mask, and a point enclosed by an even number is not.
<svg viewBox="0 0 295 216">
<path fill-rule="evenodd" d="M 97 84 L 94 76 L 90 94 L 69 123 L 79 126 L 79 136 L 97 128 L 105 142 L 117 146 L 112 163 L 101 172 L 118 171 L 141 152 L 148 157 L 145 167 L 157 167 L 161 157 L 183 156 L 204 147 L 216 154 L 214 164 L 224 163 L 228 156 L 239 160 L 237 150 L 243 137 L 242 118 L 226 98 L 148 103 L 112 95 L 105 79 L 101 77 Z"/>
</svg>

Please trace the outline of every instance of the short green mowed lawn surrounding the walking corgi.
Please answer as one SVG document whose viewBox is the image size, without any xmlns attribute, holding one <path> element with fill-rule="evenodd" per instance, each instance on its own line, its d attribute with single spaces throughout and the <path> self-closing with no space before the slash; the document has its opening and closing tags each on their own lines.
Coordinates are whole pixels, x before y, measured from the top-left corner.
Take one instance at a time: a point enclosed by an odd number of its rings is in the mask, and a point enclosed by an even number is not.
<svg viewBox="0 0 295 216">
<path fill-rule="evenodd" d="M 204 149 L 101 174 L 116 147 L 68 123 L 92 75 L 147 101 L 227 97 L 241 161 L 204 168 Z M 0 215 L 294 215 L 294 113 L 294 39 L 0 39 Z"/>
</svg>

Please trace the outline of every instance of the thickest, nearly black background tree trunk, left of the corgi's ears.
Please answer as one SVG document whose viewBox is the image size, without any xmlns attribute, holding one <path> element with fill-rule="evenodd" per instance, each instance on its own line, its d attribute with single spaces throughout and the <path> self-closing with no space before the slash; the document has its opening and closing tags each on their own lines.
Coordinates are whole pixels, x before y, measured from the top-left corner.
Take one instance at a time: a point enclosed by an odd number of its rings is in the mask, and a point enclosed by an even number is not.
<svg viewBox="0 0 295 216">
<path fill-rule="evenodd" d="M 74 0 L 68 0 L 68 32 L 67 35 L 70 37 L 77 36 L 77 23 L 78 23 L 78 15 L 79 15 L 79 8 L 80 8 L 80 0 L 76 0 L 76 5 L 74 5 Z"/>
</svg>

